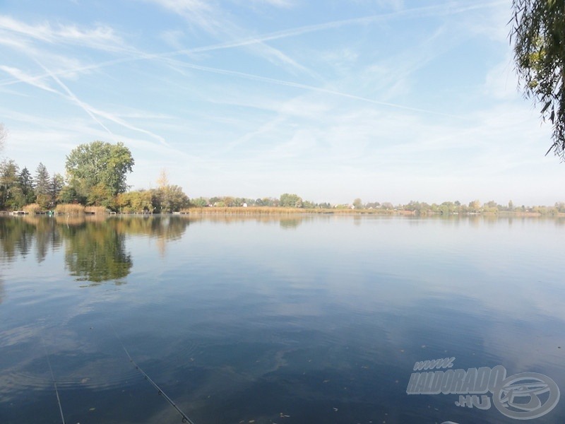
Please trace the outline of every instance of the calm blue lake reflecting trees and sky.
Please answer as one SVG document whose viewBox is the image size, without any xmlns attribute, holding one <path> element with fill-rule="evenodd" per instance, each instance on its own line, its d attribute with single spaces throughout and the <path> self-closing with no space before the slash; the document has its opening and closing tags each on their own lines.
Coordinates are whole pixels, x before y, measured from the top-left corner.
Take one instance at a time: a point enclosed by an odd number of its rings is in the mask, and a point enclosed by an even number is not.
<svg viewBox="0 0 565 424">
<path fill-rule="evenodd" d="M 563 423 L 564 224 L 2 217 L 0 423 Z"/>
</svg>

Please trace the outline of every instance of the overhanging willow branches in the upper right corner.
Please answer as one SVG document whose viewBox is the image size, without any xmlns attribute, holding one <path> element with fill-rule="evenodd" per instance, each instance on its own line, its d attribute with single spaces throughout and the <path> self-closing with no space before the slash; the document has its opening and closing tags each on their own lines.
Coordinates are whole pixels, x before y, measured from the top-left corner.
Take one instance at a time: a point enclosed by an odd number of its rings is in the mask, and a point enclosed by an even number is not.
<svg viewBox="0 0 565 424">
<path fill-rule="evenodd" d="M 565 1 L 513 0 L 511 40 L 526 98 L 553 124 L 553 151 L 565 158 Z M 547 154 L 546 153 L 546 154 Z"/>
</svg>

